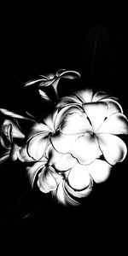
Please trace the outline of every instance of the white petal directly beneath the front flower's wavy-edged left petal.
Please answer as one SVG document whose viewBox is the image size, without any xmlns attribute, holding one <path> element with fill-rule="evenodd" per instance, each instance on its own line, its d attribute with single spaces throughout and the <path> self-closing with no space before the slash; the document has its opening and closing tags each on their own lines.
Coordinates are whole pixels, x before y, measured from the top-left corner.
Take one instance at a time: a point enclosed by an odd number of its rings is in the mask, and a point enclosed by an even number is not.
<svg viewBox="0 0 128 256">
<path fill-rule="evenodd" d="M 65 172 L 71 169 L 77 162 L 77 160 L 73 158 L 71 154 L 58 153 L 51 144 L 49 144 L 46 156 L 48 158 L 49 165 L 54 166 L 59 172 Z"/>
</svg>

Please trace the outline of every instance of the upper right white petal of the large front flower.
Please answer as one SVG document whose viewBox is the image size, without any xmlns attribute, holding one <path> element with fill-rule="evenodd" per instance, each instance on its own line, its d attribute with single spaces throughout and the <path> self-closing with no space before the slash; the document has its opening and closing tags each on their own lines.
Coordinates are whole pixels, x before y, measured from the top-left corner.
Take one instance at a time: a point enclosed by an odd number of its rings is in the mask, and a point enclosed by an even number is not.
<svg viewBox="0 0 128 256">
<path fill-rule="evenodd" d="M 128 134 L 128 120 L 123 113 L 113 113 L 102 123 L 96 133 Z"/>
</svg>

